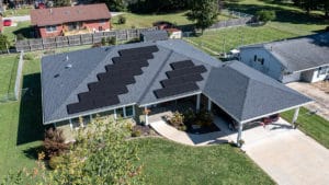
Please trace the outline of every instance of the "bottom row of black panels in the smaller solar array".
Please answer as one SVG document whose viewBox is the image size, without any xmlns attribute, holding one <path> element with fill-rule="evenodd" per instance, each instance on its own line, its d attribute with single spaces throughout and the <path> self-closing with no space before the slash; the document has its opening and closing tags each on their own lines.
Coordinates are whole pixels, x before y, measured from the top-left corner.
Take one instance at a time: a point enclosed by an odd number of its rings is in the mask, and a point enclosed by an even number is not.
<svg viewBox="0 0 329 185">
<path fill-rule="evenodd" d="M 170 88 L 156 90 L 155 94 L 158 99 L 162 99 L 196 90 L 198 90 L 198 86 L 194 82 L 189 82 L 181 85 L 173 85 Z"/>
</svg>

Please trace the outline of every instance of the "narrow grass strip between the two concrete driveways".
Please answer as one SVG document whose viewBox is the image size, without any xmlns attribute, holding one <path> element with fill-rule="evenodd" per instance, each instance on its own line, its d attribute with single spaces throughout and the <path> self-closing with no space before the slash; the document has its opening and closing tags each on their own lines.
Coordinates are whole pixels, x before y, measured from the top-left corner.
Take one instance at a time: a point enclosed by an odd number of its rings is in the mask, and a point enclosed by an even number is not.
<svg viewBox="0 0 329 185">
<path fill-rule="evenodd" d="M 294 109 L 282 113 L 281 116 L 286 120 L 292 120 L 294 116 Z M 329 149 L 329 120 L 316 114 L 309 114 L 307 108 L 302 107 L 297 124 L 302 131 Z"/>
</svg>

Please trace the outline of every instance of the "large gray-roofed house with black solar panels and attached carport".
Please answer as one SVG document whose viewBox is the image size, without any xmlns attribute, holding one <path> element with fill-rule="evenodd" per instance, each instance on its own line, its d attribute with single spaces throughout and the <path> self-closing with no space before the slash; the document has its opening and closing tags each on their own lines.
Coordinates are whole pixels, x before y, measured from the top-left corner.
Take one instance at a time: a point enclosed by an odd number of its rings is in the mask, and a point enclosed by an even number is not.
<svg viewBox="0 0 329 185">
<path fill-rule="evenodd" d="M 186 99 L 196 111 L 222 108 L 239 123 L 239 132 L 242 124 L 311 102 L 239 61 L 223 63 L 181 39 L 42 58 L 44 125 L 73 128 L 79 117 L 87 124 L 97 115 L 148 124 L 149 109 L 157 113 L 152 108 Z"/>
</svg>

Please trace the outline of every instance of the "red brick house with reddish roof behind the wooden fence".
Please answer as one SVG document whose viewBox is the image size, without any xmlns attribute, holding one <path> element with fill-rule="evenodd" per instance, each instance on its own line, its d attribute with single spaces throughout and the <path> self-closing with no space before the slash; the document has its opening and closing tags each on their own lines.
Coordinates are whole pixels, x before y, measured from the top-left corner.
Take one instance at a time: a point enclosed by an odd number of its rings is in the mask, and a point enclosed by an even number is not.
<svg viewBox="0 0 329 185">
<path fill-rule="evenodd" d="M 110 31 L 110 19 L 104 3 L 31 11 L 31 24 L 42 38 Z"/>
</svg>

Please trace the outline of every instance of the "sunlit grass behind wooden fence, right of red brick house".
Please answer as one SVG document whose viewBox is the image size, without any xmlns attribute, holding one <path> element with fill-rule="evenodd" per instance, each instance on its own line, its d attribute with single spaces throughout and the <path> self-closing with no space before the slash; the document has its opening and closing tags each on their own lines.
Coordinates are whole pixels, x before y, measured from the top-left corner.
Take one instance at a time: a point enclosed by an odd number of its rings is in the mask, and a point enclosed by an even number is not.
<svg viewBox="0 0 329 185">
<path fill-rule="evenodd" d="M 112 25 L 115 30 L 120 28 L 132 28 L 132 27 L 150 27 L 152 23 L 158 21 L 167 21 L 177 25 L 190 25 L 193 24 L 192 21 L 188 20 L 184 12 L 179 13 L 168 13 L 168 14 L 136 14 L 136 13 L 124 13 L 123 16 L 126 18 L 125 24 L 117 24 L 118 16 L 112 19 Z M 219 20 L 229 19 L 226 15 L 218 15 Z"/>
</svg>

